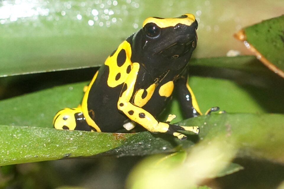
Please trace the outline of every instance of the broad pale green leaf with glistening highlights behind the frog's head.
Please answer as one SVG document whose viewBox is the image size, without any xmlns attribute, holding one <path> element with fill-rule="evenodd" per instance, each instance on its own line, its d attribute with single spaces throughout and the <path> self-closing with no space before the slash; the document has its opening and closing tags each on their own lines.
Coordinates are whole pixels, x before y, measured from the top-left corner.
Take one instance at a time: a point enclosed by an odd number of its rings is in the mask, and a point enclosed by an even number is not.
<svg viewBox="0 0 284 189">
<path fill-rule="evenodd" d="M 221 0 L 1 1 L 0 76 L 101 65 L 150 16 L 195 14 L 199 21 L 197 57 L 224 56 L 230 49 L 242 51 L 232 38 L 235 28 L 282 14 L 277 7 L 283 1 L 270 2 L 276 9 L 265 14 L 258 11 L 266 8 L 264 3 L 238 2 L 233 4 L 238 11 L 227 16 L 220 12 L 232 2 Z M 247 17 L 248 6 L 258 16 Z"/>
</svg>

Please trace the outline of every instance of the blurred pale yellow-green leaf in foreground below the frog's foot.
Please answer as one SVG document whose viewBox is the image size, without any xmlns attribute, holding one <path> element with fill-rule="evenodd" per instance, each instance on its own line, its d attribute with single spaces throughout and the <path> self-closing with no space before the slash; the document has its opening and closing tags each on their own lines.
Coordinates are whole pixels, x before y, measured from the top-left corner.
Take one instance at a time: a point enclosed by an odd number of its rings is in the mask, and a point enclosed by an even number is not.
<svg viewBox="0 0 284 189">
<path fill-rule="evenodd" d="M 163 163 L 159 156 L 147 158 L 130 173 L 127 188 L 191 188 L 204 179 L 217 177 L 230 164 L 235 152 L 229 145 L 213 140 L 210 144 L 202 141 L 194 146 L 183 164 L 164 166 L 171 160 L 182 161 L 177 156 L 183 156 L 184 152 L 167 156 Z"/>
</svg>

